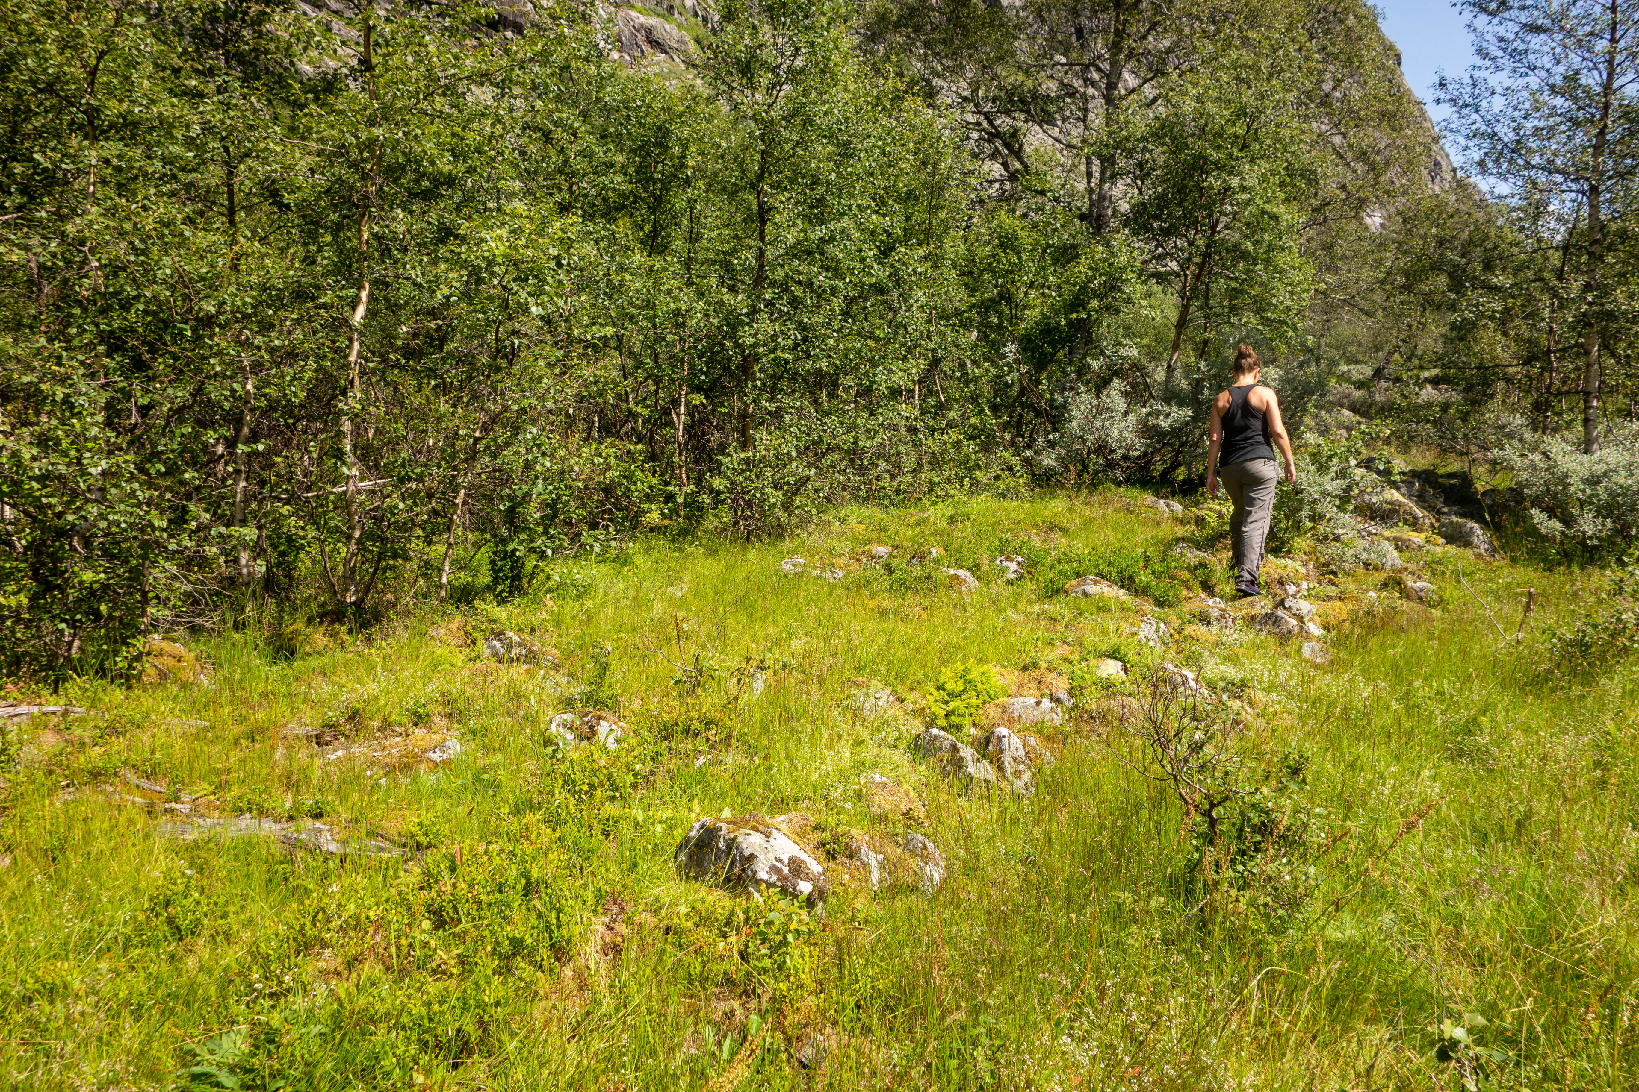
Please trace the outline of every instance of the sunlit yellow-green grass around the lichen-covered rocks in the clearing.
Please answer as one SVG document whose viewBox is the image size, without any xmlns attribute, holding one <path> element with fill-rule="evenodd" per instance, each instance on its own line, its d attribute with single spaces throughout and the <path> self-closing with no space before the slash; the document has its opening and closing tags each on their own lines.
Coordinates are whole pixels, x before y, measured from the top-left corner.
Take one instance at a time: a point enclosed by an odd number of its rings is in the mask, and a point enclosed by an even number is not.
<svg viewBox="0 0 1639 1092">
<path fill-rule="evenodd" d="M 1159 552 L 1178 524 L 1113 493 L 842 519 L 765 547 L 639 544 L 582 566 L 556 606 L 488 611 L 484 625 L 556 645 L 572 676 L 611 650 L 633 725 L 613 758 L 546 745 L 547 715 L 575 706 L 549 673 L 474 671 L 475 653 L 425 624 L 293 663 L 225 642 L 210 688 L 75 691 L 111 715 L 56 745 L 38 720 L 13 740 L 28 747 L 5 804 L 0 1072 L 16 1087 L 164 1087 L 198 1061 L 195 1081 L 244 1087 L 1200 1089 L 1460 1087 L 1487 1071 L 1495 1087 L 1639 1087 L 1636 676 L 1544 683 L 1529 648 L 1495 655 L 1455 562 L 1493 604 L 1534 583 L 1547 622 L 1573 604 L 1569 578 L 1421 555 L 1446 606 L 1403 604 L 1382 575 L 1336 581 L 1393 606 L 1341 627 L 1329 666 L 1265 637 L 1167 650 L 1260 704 L 1254 760 L 1310 756 L 1288 804 L 1319 809 L 1314 842 L 1331 845 L 1252 892 L 1296 892 L 1280 915 L 1190 874 L 1180 805 L 1118 761 L 1137 751 L 1090 689 L 1029 801 L 952 791 L 910 760 L 911 715 L 849 704 L 854 679 L 908 696 L 964 660 L 1141 660 L 1131 609 L 978 565 L 1019 532 L 1047 534 L 1042 557 Z M 982 586 L 777 570 L 793 550 L 870 542 L 900 557 L 939 544 Z M 733 701 L 728 681 L 685 704 L 654 652 L 677 660 L 679 640 L 729 668 L 779 666 L 759 697 Z M 1051 660 L 1060 643 L 1072 655 Z M 459 732 L 461 758 L 382 774 L 280 738 L 415 720 Z M 223 812 L 323 812 L 434 848 L 405 869 L 259 838 L 179 843 L 97 791 L 121 769 Z M 800 810 L 833 846 L 908 830 L 865 807 L 869 773 L 923 801 L 951 863 L 939 894 L 852 886 L 823 920 L 770 925 L 767 907 L 674 874 L 703 814 Z M 598 925 L 611 910 L 618 930 Z M 1488 1022 L 1480 1069 L 1439 1061 L 1429 1031 L 1465 1013 Z M 803 1074 L 792 1054 L 816 1030 L 836 1046 Z M 744 1051 L 759 1035 L 762 1053 Z"/>
</svg>

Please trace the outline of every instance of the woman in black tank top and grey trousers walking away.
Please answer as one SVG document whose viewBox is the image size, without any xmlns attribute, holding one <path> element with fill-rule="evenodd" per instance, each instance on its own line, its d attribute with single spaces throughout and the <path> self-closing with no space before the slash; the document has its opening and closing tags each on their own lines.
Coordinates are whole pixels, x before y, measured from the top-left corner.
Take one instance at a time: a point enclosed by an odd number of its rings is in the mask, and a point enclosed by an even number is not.
<svg viewBox="0 0 1639 1092">
<path fill-rule="evenodd" d="M 1260 370 L 1251 345 L 1236 349 L 1234 380 L 1213 401 L 1213 439 L 1206 447 L 1206 491 L 1218 496 L 1221 478 L 1234 501 L 1229 540 L 1234 544 L 1234 589 L 1242 596 L 1260 594 L 1257 570 L 1264 565 L 1264 540 L 1280 485 L 1275 447 L 1287 460 L 1287 481 L 1298 480 L 1292 439 L 1280 421 L 1280 399 L 1257 385 Z"/>
</svg>

